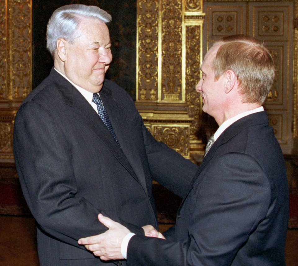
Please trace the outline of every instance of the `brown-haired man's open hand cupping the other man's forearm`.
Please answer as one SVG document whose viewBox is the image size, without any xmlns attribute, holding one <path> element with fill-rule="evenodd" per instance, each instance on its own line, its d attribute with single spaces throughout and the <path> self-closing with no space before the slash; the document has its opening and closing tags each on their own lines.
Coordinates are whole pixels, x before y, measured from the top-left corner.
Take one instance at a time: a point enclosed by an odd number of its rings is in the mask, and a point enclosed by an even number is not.
<svg viewBox="0 0 298 266">
<path fill-rule="evenodd" d="M 98 214 L 98 220 L 109 230 L 100 235 L 81 238 L 78 241 L 79 245 L 84 245 L 87 250 L 102 260 L 124 259 L 121 254 L 121 243 L 130 231 L 102 214 Z"/>
</svg>

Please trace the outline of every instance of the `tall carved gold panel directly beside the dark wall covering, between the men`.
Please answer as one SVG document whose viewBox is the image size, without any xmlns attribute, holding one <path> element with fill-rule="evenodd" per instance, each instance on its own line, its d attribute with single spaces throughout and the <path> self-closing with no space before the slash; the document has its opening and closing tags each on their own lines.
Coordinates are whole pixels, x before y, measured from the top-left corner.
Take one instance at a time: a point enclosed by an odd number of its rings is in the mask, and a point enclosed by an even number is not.
<svg viewBox="0 0 298 266">
<path fill-rule="evenodd" d="M 158 2 L 138 1 L 137 101 L 157 100 Z"/>
</svg>

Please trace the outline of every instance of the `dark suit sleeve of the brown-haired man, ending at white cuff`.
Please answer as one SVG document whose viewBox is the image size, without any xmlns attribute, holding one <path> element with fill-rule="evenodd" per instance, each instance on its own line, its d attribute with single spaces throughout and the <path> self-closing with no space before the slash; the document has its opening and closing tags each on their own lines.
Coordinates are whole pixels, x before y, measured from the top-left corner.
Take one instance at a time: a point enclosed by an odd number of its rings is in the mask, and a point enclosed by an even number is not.
<svg viewBox="0 0 298 266">
<path fill-rule="evenodd" d="M 213 167 L 212 167 L 213 166 Z M 184 239 L 167 241 L 133 236 L 129 266 L 230 265 L 240 247 L 265 219 L 270 203 L 268 180 L 245 154 L 226 154 L 199 176 L 186 197 L 176 230 Z"/>
</svg>

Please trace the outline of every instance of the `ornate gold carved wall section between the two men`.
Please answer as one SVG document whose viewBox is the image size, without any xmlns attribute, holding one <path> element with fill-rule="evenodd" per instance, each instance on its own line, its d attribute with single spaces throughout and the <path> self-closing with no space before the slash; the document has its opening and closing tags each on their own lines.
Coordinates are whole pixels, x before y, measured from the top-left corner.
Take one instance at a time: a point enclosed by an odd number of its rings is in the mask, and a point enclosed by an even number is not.
<svg viewBox="0 0 298 266">
<path fill-rule="evenodd" d="M 156 139 L 201 160 L 202 1 L 137 1 L 136 106 Z M 158 18 L 158 19 L 157 19 Z"/>
</svg>

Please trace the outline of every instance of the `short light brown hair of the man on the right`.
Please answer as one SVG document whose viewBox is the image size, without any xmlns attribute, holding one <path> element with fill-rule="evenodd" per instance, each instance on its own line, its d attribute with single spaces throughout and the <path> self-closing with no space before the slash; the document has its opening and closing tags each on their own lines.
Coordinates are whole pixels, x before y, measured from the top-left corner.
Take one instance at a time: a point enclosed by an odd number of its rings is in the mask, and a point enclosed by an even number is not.
<svg viewBox="0 0 298 266">
<path fill-rule="evenodd" d="M 241 86 L 243 102 L 263 104 L 273 84 L 274 62 L 269 50 L 248 35 L 224 37 L 213 61 L 215 80 L 233 70 Z"/>
</svg>

